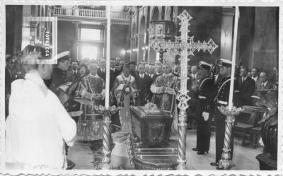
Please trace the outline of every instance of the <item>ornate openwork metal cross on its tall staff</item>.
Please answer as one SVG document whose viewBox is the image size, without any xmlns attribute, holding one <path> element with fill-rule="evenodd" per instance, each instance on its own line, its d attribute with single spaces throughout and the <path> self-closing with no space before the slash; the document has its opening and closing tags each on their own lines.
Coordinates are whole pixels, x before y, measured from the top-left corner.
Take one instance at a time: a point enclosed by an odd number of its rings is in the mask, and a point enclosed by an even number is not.
<svg viewBox="0 0 283 176">
<path fill-rule="evenodd" d="M 212 54 L 214 50 L 218 47 L 212 39 L 209 42 L 194 42 L 194 36 L 188 36 L 190 30 L 188 26 L 190 25 L 189 21 L 192 19 L 187 11 L 183 11 L 178 18 L 181 20 L 180 22 L 180 36 L 175 36 L 175 42 L 171 42 L 169 40 L 166 42 L 165 40 L 160 40 L 156 38 L 155 40 L 151 40 L 151 47 L 156 51 L 160 52 L 161 50 L 165 51 L 166 49 L 174 49 L 175 53 L 180 55 L 180 94 L 177 99 L 179 100 L 178 108 L 180 109 L 178 115 L 178 169 L 184 170 L 185 164 L 187 162 L 185 158 L 185 142 L 186 142 L 186 109 L 188 107 L 187 101 L 190 97 L 187 95 L 187 61 L 189 60 L 187 57 L 189 55 L 194 55 L 194 52 L 200 52 L 202 50 L 205 52 L 206 50 Z M 152 31 L 150 31 L 152 32 Z"/>
</svg>

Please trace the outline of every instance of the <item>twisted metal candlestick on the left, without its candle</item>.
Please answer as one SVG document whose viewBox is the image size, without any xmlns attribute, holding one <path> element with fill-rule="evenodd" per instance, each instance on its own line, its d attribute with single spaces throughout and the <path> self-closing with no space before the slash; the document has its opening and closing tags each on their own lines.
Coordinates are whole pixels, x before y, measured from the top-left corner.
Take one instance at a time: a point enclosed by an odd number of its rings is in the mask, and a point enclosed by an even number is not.
<svg viewBox="0 0 283 176">
<path fill-rule="evenodd" d="M 103 115 L 103 159 L 102 159 L 102 169 L 103 170 L 110 170 L 112 169 L 111 165 L 111 151 L 110 151 L 110 124 L 111 124 L 111 115 L 114 115 L 120 107 L 110 107 L 110 109 L 105 108 L 103 106 L 95 106 L 93 107 L 95 110 L 98 111 L 100 115 Z"/>
</svg>

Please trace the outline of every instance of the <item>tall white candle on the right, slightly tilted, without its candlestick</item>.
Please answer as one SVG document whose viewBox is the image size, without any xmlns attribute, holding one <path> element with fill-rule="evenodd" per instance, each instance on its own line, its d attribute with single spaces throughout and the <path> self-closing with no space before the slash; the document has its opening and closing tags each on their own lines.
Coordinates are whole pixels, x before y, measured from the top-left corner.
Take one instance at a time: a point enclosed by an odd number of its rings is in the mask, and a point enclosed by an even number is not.
<svg viewBox="0 0 283 176">
<path fill-rule="evenodd" d="M 233 90 L 234 90 L 235 66 L 236 66 L 236 44 L 237 44 L 237 33 L 238 33 L 238 18 L 239 18 L 239 11 L 238 11 L 238 6 L 236 6 L 234 31 L 233 31 L 231 82 L 230 82 L 229 104 L 228 104 L 229 110 L 231 110 L 233 106 Z"/>
</svg>

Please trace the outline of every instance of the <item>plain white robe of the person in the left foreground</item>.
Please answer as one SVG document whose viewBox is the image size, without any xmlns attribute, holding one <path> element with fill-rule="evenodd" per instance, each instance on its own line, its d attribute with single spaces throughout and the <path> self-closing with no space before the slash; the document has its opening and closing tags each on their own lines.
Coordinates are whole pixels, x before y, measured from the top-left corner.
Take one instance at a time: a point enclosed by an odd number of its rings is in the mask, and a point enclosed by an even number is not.
<svg viewBox="0 0 283 176">
<path fill-rule="evenodd" d="M 37 72 L 11 84 L 6 119 L 6 163 L 23 169 L 67 168 L 64 141 L 72 146 L 76 123 Z"/>
</svg>

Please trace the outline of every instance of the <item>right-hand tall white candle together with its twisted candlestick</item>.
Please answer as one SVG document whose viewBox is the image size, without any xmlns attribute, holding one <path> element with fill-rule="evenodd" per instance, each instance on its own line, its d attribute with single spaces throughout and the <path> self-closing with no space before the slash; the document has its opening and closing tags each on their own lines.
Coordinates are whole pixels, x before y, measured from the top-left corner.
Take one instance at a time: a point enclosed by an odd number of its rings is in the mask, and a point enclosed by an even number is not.
<svg viewBox="0 0 283 176">
<path fill-rule="evenodd" d="M 231 157 L 231 138 L 232 138 L 232 127 L 235 121 L 235 115 L 241 112 L 241 108 L 236 108 L 233 106 L 233 91 L 234 91 L 234 80 L 235 80 L 235 67 L 236 67 L 236 43 L 237 43 L 237 32 L 238 32 L 238 18 L 240 17 L 240 12 L 238 6 L 235 8 L 235 20 L 234 20 L 234 30 L 233 30 L 233 50 L 232 50 L 232 66 L 231 66 L 231 81 L 230 81 L 230 91 L 229 91 L 229 104 L 228 107 L 218 107 L 219 111 L 226 116 L 225 124 L 225 136 L 224 136 L 224 147 L 223 153 L 221 155 L 221 160 L 219 161 L 219 168 L 224 170 L 230 170 L 233 168 L 232 157 Z"/>
</svg>

